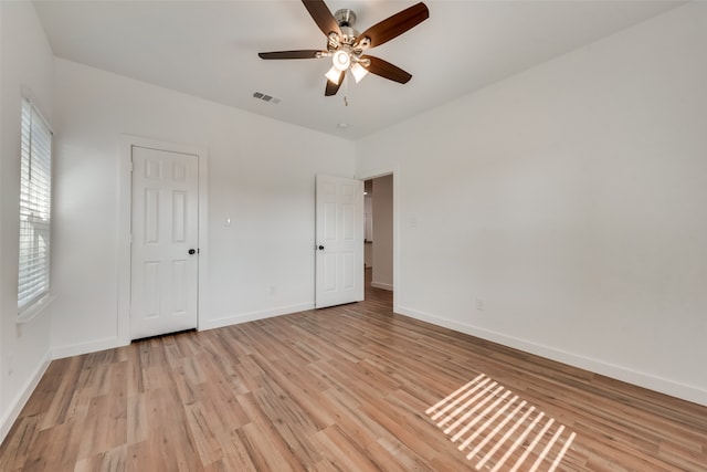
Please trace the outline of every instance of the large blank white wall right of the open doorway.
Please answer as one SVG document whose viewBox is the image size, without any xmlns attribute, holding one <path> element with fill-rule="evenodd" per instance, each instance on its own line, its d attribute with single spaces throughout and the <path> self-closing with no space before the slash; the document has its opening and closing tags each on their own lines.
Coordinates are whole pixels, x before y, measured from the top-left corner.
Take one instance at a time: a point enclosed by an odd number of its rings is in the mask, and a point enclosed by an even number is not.
<svg viewBox="0 0 707 472">
<path fill-rule="evenodd" d="M 397 310 L 707 405 L 705 44 L 693 2 L 357 143 Z"/>
</svg>

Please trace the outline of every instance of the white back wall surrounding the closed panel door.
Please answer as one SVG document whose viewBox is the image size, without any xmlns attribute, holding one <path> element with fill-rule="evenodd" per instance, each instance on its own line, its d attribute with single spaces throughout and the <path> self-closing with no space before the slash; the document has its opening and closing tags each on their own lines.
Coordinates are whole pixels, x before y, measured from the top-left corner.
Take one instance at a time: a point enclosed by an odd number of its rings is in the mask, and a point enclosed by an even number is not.
<svg viewBox="0 0 707 472">
<path fill-rule="evenodd" d="M 56 355 L 120 343 L 123 134 L 208 149 L 201 328 L 314 305 L 315 175 L 352 177 L 354 143 L 65 60 L 56 60 Z"/>
</svg>

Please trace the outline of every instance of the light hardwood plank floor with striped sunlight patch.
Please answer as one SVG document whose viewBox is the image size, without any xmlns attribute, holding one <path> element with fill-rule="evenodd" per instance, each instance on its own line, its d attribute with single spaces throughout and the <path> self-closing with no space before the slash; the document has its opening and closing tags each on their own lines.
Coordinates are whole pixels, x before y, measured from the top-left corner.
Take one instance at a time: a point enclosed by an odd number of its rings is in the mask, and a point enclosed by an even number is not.
<svg viewBox="0 0 707 472">
<path fill-rule="evenodd" d="M 460 390 L 481 375 L 487 395 Z M 519 471 L 706 471 L 707 408 L 394 315 L 369 287 L 55 360 L 0 471 L 508 471 L 524 454 Z"/>
</svg>

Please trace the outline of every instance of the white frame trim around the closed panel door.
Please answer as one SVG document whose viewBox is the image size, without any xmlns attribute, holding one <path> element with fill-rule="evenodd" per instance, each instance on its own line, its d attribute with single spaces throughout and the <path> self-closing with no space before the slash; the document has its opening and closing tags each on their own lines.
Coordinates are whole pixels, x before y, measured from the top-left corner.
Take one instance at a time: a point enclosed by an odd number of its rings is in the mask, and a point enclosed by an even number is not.
<svg viewBox="0 0 707 472">
<path fill-rule="evenodd" d="M 199 160 L 199 269 L 197 273 L 197 329 L 207 315 L 209 268 L 209 156 L 205 147 L 190 146 L 178 143 L 161 141 L 141 136 L 120 136 L 120 157 L 118 160 L 118 306 L 117 334 L 123 345 L 130 344 L 130 281 L 131 258 L 130 227 L 133 221 L 133 147 L 146 147 L 171 153 L 190 154 Z"/>
</svg>

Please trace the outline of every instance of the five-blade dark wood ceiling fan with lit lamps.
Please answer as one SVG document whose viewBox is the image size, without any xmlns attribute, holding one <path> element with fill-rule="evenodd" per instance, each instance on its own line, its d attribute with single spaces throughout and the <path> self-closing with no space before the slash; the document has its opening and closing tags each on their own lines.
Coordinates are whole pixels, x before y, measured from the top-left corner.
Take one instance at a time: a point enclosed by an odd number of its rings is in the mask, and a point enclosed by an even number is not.
<svg viewBox="0 0 707 472">
<path fill-rule="evenodd" d="M 401 84 L 407 84 L 412 78 L 411 74 L 397 65 L 363 53 L 401 35 L 430 18 L 430 11 L 424 3 L 420 2 L 402 10 L 359 33 L 352 28 L 356 13 L 351 10 L 338 10 L 331 14 L 323 0 L 303 0 L 302 2 L 327 36 L 327 49 L 261 52 L 257 54 L 261 59 L 331 57 L 331 69 L 325 74 L 327 85 L 324 94 L 326 96 L 336 95 L 347 71 L 351 72 L 357 83 L 369 72 Z"/>
</svg>

